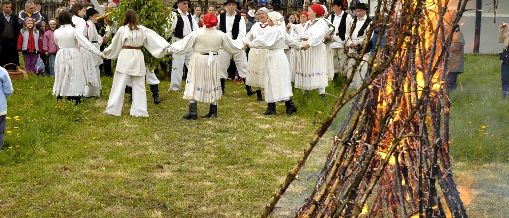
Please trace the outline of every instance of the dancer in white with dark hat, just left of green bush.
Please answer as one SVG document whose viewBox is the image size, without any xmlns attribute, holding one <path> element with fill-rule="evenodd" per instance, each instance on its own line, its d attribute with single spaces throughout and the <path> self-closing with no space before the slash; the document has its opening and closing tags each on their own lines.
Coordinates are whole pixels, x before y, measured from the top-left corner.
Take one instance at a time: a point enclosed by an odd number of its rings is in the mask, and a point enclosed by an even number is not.
<svg viewBox="0 0 509 218">
<path fill-rule="evenodd" d="M 89 42 L 92 43 L 97 49 L 100 49 L 102 45 L 102 37 L 97 32 L 97 28 L 95 28 L 95 24 L 97 23 L 97 17 L 99 17 L 99 12 L 95 10 L 95 8 L 89 8 L 87 9 L 87 33 L 89 36 Z M 98 86 L 87 86 L 85 89 L 85 93 L 83 94 L 83 97 L 101 97 L 101 75 L 100 75 L 100 69 L 99 65 L 102 64 L 102 59 L 98 58 L 97 56 L 93 57 L 92 63 L 95 65 L 95 71 L 96 71 L 96 79 L 99 81 Z"/>
</svg>

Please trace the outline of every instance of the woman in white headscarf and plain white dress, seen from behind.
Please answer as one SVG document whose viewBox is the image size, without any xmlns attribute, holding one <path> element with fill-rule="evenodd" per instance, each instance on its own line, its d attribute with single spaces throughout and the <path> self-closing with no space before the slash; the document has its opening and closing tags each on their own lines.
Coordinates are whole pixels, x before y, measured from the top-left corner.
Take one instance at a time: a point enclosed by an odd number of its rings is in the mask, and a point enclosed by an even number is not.
<svg viewBox="0 0 509 218">
<path fill-rule="evenodd" d="M 265 101 L 267 110 L 263 115 L 276 114 L 276 102 L 285 101 L 286 113 L 288 115 L 297 111 L 292 101 L 292 82 L 290 78 L 290 67 L 284 49 L 288 46 L 301 48 L 285 31 L 285 18 L 278 12 L 270 12 L 268 24 L 272 28 L 263 36 L 246 43 L 250 48 L 267 49 L 267 72 L 265 74 Z"/>
</svg>

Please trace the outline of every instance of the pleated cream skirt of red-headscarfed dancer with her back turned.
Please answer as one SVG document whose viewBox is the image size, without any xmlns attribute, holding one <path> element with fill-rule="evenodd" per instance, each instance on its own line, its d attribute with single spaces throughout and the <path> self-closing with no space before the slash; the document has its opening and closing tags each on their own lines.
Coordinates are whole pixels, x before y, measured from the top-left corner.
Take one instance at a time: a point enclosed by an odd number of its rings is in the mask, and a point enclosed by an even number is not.
<svg viewBox="0 0 509 218">
<path fill-rule="evenodd" d="M 196 52 L 192 55 L 187 70 L 184 99 L 212 103 L 221 98 L 220 60 L 217 55 L 214 55 L 209 66 L 208 59 L 209 55 Z"/>
</svg>

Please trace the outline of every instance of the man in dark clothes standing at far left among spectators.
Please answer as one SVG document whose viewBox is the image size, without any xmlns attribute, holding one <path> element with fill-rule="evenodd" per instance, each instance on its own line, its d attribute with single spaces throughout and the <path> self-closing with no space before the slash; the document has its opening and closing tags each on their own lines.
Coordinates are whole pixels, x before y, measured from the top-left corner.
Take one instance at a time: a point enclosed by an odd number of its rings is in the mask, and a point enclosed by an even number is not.
<svg viewBox="0 0 509 218">
<path fill-rule="evenodd" d="M 19 23 L 18 15 L 12 13 L 12 3 L 9 0 L 2 2 L 2 13 L 0 13 L 0 66 L 14 63 L 19 66 L 18 59 L 18 36 Z M 7 68 L 16 68 L 8 66 Z"/>
</svg>

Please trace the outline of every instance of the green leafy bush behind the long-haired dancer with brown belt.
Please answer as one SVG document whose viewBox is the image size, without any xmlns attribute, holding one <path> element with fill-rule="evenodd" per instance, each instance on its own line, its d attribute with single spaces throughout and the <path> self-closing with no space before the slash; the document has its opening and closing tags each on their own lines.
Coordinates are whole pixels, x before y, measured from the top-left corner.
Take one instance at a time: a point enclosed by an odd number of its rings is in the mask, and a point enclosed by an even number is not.
<svg viewBox="0 0 509 218">
<path fill-rule="evenodd" d="M 143 26 L 154 30 L 161 37 L 165 38 L 165 30 L 171 25 L 171 20 L 168 19 L 169 10 L 163 5 L 160 0 L 126 0 L 121 1 L 119 7 L 112 11 L 109 19 L 114 21 L 119 27 L 124 21 L 124 15 L 127 10 L 132 9 L 138 14 L 139 23 Z M 111 40 L 111 38 L 110 38 Z M 155 58 L 147 51 L 142 48 L 143 55 L 145 57 L 145 64 L 149 69 L 154 67 L 159 62 L 168 62 L 169 56 L 162 58 Z"/>
</svg>

